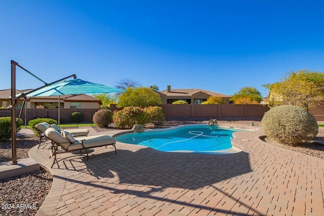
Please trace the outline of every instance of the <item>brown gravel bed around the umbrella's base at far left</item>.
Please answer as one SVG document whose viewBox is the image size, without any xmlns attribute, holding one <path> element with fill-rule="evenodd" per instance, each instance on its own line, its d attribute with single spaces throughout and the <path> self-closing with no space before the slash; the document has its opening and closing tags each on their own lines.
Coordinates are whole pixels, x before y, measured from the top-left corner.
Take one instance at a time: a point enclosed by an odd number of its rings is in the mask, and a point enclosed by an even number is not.
<svg viewBox="0 0 324 216">
<path fill-rule="evenodd" d="M 35 145 L 38 145 L 38 137 L 17 137 L 17 159 L 27 158 L 28 151 Z M 0 162 L 11 160 L 11 141 L 0 143 Z M 52 182 L 53 176 L 45 169 L 0 180 L 0 215 L 35 215 Z"/>
</svg>

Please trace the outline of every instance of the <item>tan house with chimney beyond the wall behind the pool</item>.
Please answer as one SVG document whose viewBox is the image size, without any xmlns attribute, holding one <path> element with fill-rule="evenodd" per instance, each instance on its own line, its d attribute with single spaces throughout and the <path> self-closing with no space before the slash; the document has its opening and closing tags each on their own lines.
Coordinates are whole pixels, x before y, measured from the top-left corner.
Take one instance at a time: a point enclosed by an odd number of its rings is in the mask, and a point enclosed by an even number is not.
<svg viewBox="0 0 324 216">
<path fill-rule="evenodd" d="M 188 104 L 201 104 L 210 96 L 221 97 L 225 100 L 225 104 L 229 104 L 231 96 L 210 92 L 202 89 L 168 89 L 159 92 L 163 104 L 172 104 L 174 101 L 186 101 Z"/>
</svg>

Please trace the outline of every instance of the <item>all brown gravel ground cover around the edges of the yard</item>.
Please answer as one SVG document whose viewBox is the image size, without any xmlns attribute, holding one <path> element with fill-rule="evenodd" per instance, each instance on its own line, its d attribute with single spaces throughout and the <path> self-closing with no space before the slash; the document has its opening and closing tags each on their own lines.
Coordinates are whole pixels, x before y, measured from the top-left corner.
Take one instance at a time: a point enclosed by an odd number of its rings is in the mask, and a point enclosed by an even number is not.
<svg viewBox="0 0 324 216">
<path fill-rule="evenodd" d="M 250 125 L 250 122 L 253 121 L 255 126 L 261 126 L 261 119 L 258 118 L 217 118 L 217 120 L 219 123 L 246 125 Z M 169 118 L 161 127 L 208 122 L 209 118 Z M 114 129 L 113 127 L 93 128 L 97 132 L 111 131 Z M 264 140 L 281 148 L 302 152 L 304 154 L 324 159 L 324 145 L 318 144 L 314 141 L 294 147 L 281 145 L 272 141 L 270 142 L 267 138 Z M 324 127 L 319 127 L 319 133 L 315 137 L 315 141 L 316 140 L 324 140 Z M 37 144 L 38 139 L 36 137 L 25 136 L 17 138 L 17 158 L 20 159 L 28 157 L 29 149 Z M 11 156 L 11 142 L 0 143 L 0 162 L 10 161 Z M 10 179 L 0 180 L 0 215 L 34 215 L 50 191 L 52 181 L 52 175 L 45 169 Z M 8 209 L 9 204 L 14 208 Z"/>
</svg>

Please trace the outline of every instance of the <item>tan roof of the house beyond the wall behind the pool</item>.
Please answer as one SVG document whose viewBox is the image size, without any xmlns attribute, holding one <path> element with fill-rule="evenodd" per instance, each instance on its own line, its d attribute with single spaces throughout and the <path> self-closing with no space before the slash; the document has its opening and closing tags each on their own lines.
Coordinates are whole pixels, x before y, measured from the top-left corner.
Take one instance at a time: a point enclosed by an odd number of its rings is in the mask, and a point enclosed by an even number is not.
<svg viewBox="0 0 324 216">
<path fill-rule="evenodd" d="M 221 97 L 221 98 L 230 98 L 229 95 L 223 95 L 216 92 L 211 92 L 203 89 L 171 89 L 170 92 L 168 90 L 164 90 L 160 92 L 161 94 L 164 94 L 169 97 L 192 97 L 197 94 L 206 94 L 208 96 L 215 96 L 215 97 Z"/>
</svg>

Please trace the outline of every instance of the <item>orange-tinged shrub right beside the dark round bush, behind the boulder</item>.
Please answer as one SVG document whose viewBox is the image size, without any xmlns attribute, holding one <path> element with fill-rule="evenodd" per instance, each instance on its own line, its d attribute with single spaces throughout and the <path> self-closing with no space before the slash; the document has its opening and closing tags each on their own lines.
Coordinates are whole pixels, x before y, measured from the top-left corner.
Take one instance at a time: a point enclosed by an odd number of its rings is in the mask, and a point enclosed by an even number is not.
<svg viewBox="0 0 324 216">
<path fill-rule="evenodd" d="M 113 123 L 118 128 L 132 128 L 135 124 L 145 125 L 145 118 L 141 107 L 125 107 L 113 113 Z"/>
</svg>

